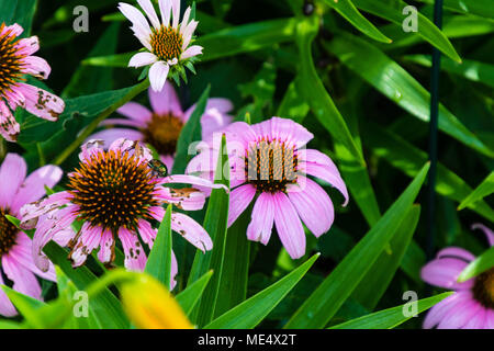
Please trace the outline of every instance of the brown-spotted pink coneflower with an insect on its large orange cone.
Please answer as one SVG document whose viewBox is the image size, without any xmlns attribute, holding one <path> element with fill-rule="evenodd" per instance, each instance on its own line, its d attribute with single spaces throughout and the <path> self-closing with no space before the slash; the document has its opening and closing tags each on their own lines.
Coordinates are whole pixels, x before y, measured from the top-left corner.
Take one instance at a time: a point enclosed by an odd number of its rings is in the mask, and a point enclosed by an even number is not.
<svg viewBox="0 0 494 351">
<path fill-rule="evenodd" d="M 120 239 L 125 267 L 142 271 L 146 254 L 141 241 L 153 246 L 157 229 L 153 220 L 161 222 L 164 204 L 195 211 L 202 208 L 204 193 L 195 189 L 162 186 L 172 183 L 216 186 L 210 181 L 189 176 L 159 178 L 148 166 L 150 151 L 136 141 L 117 139 L 109 150 L 101 140 L 82 146 L 79 167 L 69 174 L 68 190 L 55 193 L 41 203 L 22 207 L 21 226 L 33 227 L 33 254 L 37 267 L 47 268 L 43 247 L 58 230 L 75 220 L 82 222 L 79 233 L 71 238 L 69 258 L 74 267 L 85 263 L 87 256 L 99 247 L 98 259 L 110 263 L 114 259 L 116 238 Z M 213 246 L 210 236 L 195 220 L 182 213 L 172 213 L 171 228 L 201 250 Z M 175 261 L 175 260 L 173 260 Z M 176 270 L 176 264 L 175 264 Z"/>
</svg>

